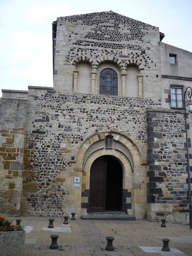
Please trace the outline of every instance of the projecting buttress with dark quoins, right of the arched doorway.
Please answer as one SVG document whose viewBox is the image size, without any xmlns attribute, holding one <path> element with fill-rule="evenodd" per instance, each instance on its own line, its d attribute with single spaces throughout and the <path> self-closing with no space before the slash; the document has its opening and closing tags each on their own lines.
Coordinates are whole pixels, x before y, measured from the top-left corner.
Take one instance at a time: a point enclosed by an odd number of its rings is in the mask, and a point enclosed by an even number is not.
<svg viewBox="0 0 192 256">
<path fill-rule="evenodd" d="M 175 213 L 188 212 L 185 121 L 182 111 L 148 111 L 147 200 L 156 215 L 168 204 Z M 189 139 L 189 146 L 190 139 Z M 159 205 L 159 207 L 158 207 Z M 164 214 L 163 214 L 164 215 Z"/>
</svg>

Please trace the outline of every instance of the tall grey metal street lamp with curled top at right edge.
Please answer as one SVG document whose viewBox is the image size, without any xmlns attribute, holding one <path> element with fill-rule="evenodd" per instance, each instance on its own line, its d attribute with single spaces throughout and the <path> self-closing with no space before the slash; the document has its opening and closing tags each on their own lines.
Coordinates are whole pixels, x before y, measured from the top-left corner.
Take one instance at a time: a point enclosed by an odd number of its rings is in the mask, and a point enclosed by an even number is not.
<svg viewBox="0 0 192 256">
<path fill-rule="evenodd" d="M 189 102 L 187 105 L 185 104 L 185 96 L 187 93 L 187 90 L 190 90 L 188 92 Z M 187 87 L 184 93 L 183 98 L 183 105 L 184 105 L 184 111 L 185 111 L 185 134 L 186 134 L 186 151 L 187 151 L 187 175 L 188 175 L 188 192 L 189 192 L 189 229 L 192 230 L 192 201 L 191 201 L 191 178 L 190 178 L 190 164 L 189 164 L 189 143 L 188 143 L 188 134 L 187 134 L 187 121 L 186 121 L 186 107 L 187 110 L 192 113 L 192 89 L 191 87 Z"/>
</svg>

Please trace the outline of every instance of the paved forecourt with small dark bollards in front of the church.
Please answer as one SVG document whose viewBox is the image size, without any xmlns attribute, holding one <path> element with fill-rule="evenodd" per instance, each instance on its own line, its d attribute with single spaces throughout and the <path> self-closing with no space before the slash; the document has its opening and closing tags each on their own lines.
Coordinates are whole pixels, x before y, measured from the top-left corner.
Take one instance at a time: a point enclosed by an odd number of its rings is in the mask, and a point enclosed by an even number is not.
<svg viewBox="0 0 192 256">
<path fill-rule="evenodd" d="M 163 228 L 160 222 L 81 219 L 64 225 L 64 218 L 55 217 L 54 229 L 48 229 L 48 218 L 21 219 L 27 226 L 24 256 L 192 256 L 192 230 L 188 225 L 167 223 Z M 53 234 L 59 235 L 58 250 L 49 249 Z M 105 250 L 106 236 L 115 238 L 114 251 Z M 171 240 L 171 252 L 161 251 L 162 238 Z"/>
</svg>

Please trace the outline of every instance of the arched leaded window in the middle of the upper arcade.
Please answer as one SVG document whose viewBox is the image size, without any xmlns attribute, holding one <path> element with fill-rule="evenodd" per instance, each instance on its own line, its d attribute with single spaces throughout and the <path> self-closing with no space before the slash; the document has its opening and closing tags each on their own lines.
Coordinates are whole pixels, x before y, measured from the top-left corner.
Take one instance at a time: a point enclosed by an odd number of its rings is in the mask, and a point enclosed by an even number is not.
<svg viewBox="0 0 192 256">
<path fill-rule="evenodd" d="M 105 68 L 99 76 L 99 94 L 117 95 L 117 73 Z"/>
</svg>

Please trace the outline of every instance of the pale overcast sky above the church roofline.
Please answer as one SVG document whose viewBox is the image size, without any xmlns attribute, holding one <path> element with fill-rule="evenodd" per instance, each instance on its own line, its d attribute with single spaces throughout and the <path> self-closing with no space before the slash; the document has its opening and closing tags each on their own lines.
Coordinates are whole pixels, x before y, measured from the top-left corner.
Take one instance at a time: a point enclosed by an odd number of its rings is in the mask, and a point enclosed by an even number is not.
<svg viewBox="0 0 192 256">
<path fill-rule="evenodd" d="M 158 26 L 164 43 L 192 52 L 192 0 L 0 0 L 0 89 L 52 87 L 52 21 L 110 10 Z"/>
</svg>

